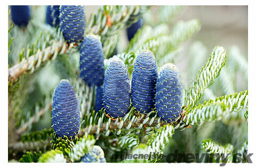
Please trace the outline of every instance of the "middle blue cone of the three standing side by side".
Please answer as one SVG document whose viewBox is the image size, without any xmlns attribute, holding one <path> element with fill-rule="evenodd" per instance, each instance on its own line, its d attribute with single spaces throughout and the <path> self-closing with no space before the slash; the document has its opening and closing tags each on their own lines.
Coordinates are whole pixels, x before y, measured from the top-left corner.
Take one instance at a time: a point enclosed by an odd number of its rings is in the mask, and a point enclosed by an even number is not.
<svg viewBox="0 0 256 168">
<path fill-rule="evenodd" d="M 147 114 L 155 108 L 157 65 L 154 54 L 143 50 L 137 56 L 132 73 L 132 106 Z"/>
</svg>

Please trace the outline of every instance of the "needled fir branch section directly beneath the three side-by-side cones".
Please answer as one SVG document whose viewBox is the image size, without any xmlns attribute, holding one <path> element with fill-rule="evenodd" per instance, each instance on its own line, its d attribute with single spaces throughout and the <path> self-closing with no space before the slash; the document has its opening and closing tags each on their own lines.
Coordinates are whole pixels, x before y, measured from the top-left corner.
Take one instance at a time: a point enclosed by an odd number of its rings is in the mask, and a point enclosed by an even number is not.
<svg viewBox="0 0 256 168">
<path fill-rule="evenodd" d="M 105 122 L 103 122 L 105 121 Z M 147 128 L 156 127 L 157 129 L 163 125 L 176 125 L 180 120 L 173 123 L 162 122 L 157 116 L 156 112 L 152 111 L 150 114 L 134 115 L 134 110 L 131 108 L 130 112 L 127 113 L 122 119 L 111 120 L 104 113 L 92 113 L 85 119 L 87 127 L 81 128 L 78 133 L 79 137 L 82 137 L 86 132 L 90 135 L 104 133 L 108 136 L 111 130 L 116 130 L 116 135 L 120 135 L 122 131 L 131 131 L 132 128 L 137 128 L 137 133 L 147 132 Z"/>
</svg>

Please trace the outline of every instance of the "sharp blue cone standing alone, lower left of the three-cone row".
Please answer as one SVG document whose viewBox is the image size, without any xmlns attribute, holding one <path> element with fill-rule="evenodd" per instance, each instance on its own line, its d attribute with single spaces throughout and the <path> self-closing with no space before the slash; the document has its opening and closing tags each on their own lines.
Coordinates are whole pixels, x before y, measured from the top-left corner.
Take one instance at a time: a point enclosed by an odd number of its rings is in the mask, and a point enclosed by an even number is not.
<svg viewBox="0 0 256 168">
<path fill-rule="evenodd" d="M 74 138 L 80 129 L 77 95 L 68 80 L 62 79 L 54 90 L 52 103 L 53 130 L 58 137 Z"/>
</svg>

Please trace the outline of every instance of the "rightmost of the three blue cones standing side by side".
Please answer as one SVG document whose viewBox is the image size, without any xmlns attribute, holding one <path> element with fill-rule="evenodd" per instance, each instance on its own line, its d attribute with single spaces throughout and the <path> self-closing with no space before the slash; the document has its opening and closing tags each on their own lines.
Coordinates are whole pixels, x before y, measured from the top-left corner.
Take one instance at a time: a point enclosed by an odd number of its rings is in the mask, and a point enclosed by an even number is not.
<svg viewBox="0 0 256 168">
<path fill-rule="evenodd" d="M 171 123 L 178 119 L 182 106 L 182 89 L 179 70 L 171 63 L 165 64 L 156 84 L 156 111 L 162 121 Z"/>
</svg>

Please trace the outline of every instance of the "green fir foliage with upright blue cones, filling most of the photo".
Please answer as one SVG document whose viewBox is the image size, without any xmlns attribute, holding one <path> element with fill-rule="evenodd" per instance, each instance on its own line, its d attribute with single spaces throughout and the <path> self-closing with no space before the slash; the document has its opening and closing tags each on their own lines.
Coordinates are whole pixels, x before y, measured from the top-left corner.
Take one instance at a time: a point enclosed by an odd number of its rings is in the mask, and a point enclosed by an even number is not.
<svg viewBox="0 0 256 168">
<path fill-rule="evenodd" d="M 153 7 L 100 6 L 86 26 L 84 6 L 38 6 L 31 12 L 45 11 L 46 20 L 31 13 L 26 29 L 12 19 L 9 161 L 151 163 L 172 149 L 246 152 L 248 90 L 236 87 L 237 74 L 247 82 L 246 58 L 235 46 L 227 53 L 217 46 L 207 60 L 197 41 L 179 74 L 182 44 L 201 23 L 174 22 L 184 6 L 161 6 L 155 15 Z M 143 26 L 128 41 L 123 32 L 139 18 Z M 113 157 L 124 153 L 150 158 Z"/>
</svg>

